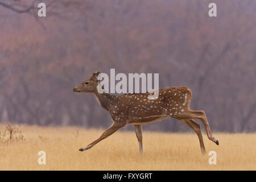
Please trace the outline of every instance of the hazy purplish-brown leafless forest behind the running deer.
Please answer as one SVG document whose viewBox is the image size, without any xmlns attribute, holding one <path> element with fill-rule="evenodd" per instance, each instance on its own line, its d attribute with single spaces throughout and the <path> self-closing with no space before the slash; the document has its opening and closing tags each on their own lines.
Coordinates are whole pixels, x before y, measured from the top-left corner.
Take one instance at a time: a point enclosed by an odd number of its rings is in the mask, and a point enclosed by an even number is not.
<svg viewBox="0 0 256 182">
<path fill-rule="evenodd" d="M 188 86 L 213 131 L 255 132 L 255 12 L 255 0 L 0 0 L 0 122 L 108 127 L 95 98 L 72 89 L 115 68 Z M 190 130 L 171 118 L 143 128 Z"/>
</svg>

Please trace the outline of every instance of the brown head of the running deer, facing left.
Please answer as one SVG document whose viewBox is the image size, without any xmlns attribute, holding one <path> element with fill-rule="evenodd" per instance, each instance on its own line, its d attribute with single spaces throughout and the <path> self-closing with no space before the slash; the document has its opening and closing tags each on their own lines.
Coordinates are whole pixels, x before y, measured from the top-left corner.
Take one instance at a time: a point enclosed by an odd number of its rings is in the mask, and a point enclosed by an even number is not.
<svg viewBox="0 0 256 182">
<path fill-rule="evenodd" d="M 100 80 L 97 80 L 98 75 L 100 75 L 100 72 L 94 72 L 89 80 L 77 85 L 73 91 L 79 93 L 96 92 L 98 82 L 100 82 Z"/>
</svg>

